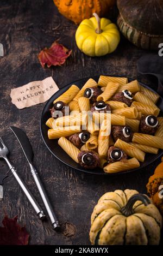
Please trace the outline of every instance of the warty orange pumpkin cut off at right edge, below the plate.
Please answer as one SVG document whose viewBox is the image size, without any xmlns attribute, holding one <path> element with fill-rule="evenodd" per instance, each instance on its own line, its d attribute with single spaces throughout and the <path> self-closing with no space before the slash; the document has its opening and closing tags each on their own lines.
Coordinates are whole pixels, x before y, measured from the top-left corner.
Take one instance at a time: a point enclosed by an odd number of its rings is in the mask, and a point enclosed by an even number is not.
<svg viewBox="0 0 163 256">
<path fill-rule="evenodd" d="M 160 186 L 163 186 L 163 157 L 162 162 L 156 167 L 154 175 L 149 178 L 147 189 L 148 193 L 151 195 L 153 203 L 160 210 L 163 216 L 163 193 L 161 193 Z"/>
</svg>

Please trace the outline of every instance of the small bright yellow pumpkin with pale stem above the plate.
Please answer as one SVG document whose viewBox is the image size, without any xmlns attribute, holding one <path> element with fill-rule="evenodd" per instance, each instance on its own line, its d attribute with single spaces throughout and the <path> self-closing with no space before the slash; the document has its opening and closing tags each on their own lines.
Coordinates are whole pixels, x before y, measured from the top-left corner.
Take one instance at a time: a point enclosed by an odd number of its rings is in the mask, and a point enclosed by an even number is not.
<svg viewBox="0 0 163 256">
<path fill-rule="evenodd" d="M 120 42 L 117 26 L 110 20 L 95 17 L 83 20 L 76 32 L 76 43 L 79 49 L 89 56 L 103 56 L 116 50 Z"/>
</svg>

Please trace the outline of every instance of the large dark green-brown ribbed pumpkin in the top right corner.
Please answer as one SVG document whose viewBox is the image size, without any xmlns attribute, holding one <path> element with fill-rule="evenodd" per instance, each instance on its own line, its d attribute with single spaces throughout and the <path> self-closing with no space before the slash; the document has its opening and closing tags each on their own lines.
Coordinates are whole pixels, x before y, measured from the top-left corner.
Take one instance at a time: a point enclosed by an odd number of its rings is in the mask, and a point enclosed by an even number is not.
<svg viewBox="0 0 163 256">
<path fill-rule="evenodd" d="M 158 49 L 163 43 L 163 0 L 117 0 L 118 27 L 131 43 Z"/>
</svg>

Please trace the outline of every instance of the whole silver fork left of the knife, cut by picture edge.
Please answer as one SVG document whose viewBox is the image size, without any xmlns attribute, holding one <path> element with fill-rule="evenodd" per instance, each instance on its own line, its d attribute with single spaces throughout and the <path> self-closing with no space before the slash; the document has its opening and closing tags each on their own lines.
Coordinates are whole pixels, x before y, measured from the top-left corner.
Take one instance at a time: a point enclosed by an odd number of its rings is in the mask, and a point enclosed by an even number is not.
<svg viewBox="0 0 163 256">
<path fill-rule="evenodd" d="M 12 164 L 10 163 L 7 155 L 9 154 L 9 150 L 7 148 L 7 146 L 5 146 L 2 138 L 0 137 L 0 141 L 3 147 L 0 146 L 0 158 L 3 158 L 5 160 L 5 162 L 7 162 L 10 171 L 12 172 L 12 175 L 14 175 L 17 183 L 20 185 L 21 189 L 23 190 L 24 194 L 26 194 L 26 197 L 28 198 L 30 204 L 32 204 L 37 216 L 42 220 L 45 218 L 45 214 L 43 213 L 40 205 L 37 203 L 36 199 L 33 197 L 33 194 L 30 192 L 30 190 L 28 189 L 26 183 L 24 183 L 24 181 L 22 180 L 22 178 L 20 177 L 20 175 L 18 175 L 17 171 L 15 170 L 15 167 L 12 166 Z"/>
</svg>

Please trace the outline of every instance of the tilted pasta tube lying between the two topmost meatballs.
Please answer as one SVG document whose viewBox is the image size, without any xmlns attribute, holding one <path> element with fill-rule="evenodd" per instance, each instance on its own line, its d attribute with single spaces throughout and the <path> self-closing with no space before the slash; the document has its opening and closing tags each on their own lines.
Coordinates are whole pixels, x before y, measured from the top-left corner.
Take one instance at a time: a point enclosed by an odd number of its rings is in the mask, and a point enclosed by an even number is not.
<svg viewBox="0 0 163 256">
<path fill-rule="evenodd" d="M 119 86 L 120 85 L 115 82 L 108 82 L 105 91 L 97 97 L 97 101 L 103 100 L 106 102 L 106 100 L 110 99 L 115 94 Z"/>
</svg>

